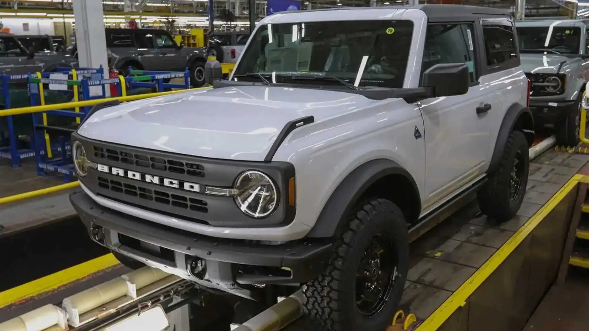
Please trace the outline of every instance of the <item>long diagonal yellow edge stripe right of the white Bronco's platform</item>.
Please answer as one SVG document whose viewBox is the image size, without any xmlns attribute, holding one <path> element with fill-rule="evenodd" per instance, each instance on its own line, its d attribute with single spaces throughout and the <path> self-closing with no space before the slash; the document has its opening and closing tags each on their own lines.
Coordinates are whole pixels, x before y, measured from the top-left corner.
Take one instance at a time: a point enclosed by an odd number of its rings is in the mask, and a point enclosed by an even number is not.
<svg viewBox="0 0 589 331">
<path fill-rule="evenodd" d="M 548 200 L 548 202 L 540 208 L 530 219 L 522 226 L 501 248 L 499 248 L 495 254 L 493 254 L 487 262 L 485 262 L 474 274 L 472 274 L 469 279 L 462 284 L 456 290 L 456 292 L 452 293 L 452 295 L 446 299 L 438 309 L 435 310 L 432 315 L 430 315 L 421 325 L 417 327 L 415 331 L 435 331 L 437 330 L 446 320 L 452 316 L 452 314 L 458 309 L 466 304 L 466 300 L 468 297 L 471 296 L 472 293 L 477 290 L 479 286 L 489 277 L 491 274 L 499 267 L 499 265 L 504 262 L 505 259 L 511 254 L 512 251 L 522 242 L 524 239 L 535 229 L 535 227 L 540 224 L 544 217 L 554 209 L 560 203 L 562 198 L 564 198 L 573 188 L 577 187 L 577 183 L 583 178 L 583 175 L 576 174 L 567 181 L 558 190 L 557 193 L 554 194 Z"/>
</svg>

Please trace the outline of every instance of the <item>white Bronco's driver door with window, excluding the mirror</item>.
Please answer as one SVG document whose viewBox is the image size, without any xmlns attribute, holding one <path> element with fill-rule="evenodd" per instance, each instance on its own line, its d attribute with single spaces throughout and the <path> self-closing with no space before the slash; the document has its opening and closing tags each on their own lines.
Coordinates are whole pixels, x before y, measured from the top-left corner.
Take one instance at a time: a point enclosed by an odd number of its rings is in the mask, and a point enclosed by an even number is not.
<svg viewBox="0 0 589 331">
<path fill-rule="evenodd" d="M 420 101 L 427 160 L 425 188 L 428 200 L 424 207 L 431 206 L 485 171 L 490 143 L 489 117 L 486 113 L 477 114 L 477 107 L 489 101 L 478 83 L 474 27 L 474 22 L 428 25 L 422 73 L 436 64 L 466 63 L 471 87 L 465 95 Z"/>
</svg>

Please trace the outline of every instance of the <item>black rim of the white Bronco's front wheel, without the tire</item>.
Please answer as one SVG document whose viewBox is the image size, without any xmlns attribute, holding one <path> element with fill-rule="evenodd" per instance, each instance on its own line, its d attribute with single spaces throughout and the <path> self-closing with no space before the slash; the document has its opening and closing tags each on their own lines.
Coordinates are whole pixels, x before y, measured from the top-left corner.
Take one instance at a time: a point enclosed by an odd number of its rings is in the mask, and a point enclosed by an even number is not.
<svg viewBox="0 0 589 331">
<path fill-rule="evenodd" d="M 376 234 L 370 239 L 356 274 L 356 306 L 364 316 L 374 316 L 389 299 L 397 274 L 398 254 L 391 238 Z"/>
</svg>

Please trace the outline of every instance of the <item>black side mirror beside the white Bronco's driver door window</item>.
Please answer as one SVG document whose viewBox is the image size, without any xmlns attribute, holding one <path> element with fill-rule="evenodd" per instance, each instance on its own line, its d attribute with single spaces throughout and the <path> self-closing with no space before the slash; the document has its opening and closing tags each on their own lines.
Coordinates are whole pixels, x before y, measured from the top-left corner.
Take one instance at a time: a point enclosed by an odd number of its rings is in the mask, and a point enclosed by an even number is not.
<svg viewBox="0 0 589 331">
<path fill-rule="evenodd" d="M 434 90 L 434 97 L 450 97 L 468 92 L 471 77 L 465 63 L 441 63 L 423 72 L 423 87 Z"/>
</svg>

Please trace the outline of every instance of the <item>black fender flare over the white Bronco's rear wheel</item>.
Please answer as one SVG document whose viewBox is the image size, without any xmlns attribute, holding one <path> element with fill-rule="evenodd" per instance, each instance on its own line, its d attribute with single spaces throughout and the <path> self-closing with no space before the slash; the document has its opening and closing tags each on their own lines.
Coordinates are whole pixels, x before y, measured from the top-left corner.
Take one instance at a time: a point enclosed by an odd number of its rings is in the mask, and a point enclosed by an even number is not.
<svg viewBox="0 0 589 331">
<path fill-rule="evenodd" d="M 495 148 L 493 150 L 491 162 L 489 163 L 488 173 L 492 173 L 499 166 L 505 143 L 507 143 L 507 138 L 513 130 L 522 131 L 528 141 L 528 147 L 531 147 L 532 143 L 534 143 L 535 133 L 534 117 L 532 116 L 530 108 L 521 104 L 512 104 L 507 109 L 507 112 L 505 112 L 505 116 L 499 127 L 499 133 L 497 134 L 497 141 L 495 141 Z"/>
</svg>

